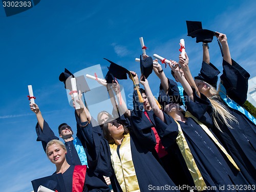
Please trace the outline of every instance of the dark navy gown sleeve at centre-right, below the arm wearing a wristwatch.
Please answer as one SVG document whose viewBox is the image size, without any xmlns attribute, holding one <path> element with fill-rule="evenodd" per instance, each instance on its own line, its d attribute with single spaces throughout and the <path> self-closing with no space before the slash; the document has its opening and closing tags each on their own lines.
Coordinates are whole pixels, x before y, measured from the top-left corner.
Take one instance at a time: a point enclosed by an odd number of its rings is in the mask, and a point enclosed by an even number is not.
<svg viewBox="0 0 256 192">
<path fill-rule="evenodd" d="M 162 85 L 160 84 L 158 97 L 159 104 L 163 106 L 163 109 L 164 106 L 169 103 L 177 103 L 178 105 L 183 105 L 177 83 L 168 78 L 168 84 L 169 89 L 167 94 L 164 92 Z"/>
</svg>

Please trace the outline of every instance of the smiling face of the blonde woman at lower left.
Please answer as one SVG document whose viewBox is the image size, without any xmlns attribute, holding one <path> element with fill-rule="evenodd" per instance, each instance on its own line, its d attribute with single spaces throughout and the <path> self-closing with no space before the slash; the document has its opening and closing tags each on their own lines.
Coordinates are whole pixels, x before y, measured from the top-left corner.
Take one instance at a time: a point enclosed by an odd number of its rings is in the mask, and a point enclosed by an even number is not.
<svg viewBox="0 0 256 192">
<path fill-rule="evenodd" d="M 47 148 L 47 156 L 54 164 L 59 164 L 65 161 L 66 151 L 57 143 L 52 144 Z"/>
</svg>

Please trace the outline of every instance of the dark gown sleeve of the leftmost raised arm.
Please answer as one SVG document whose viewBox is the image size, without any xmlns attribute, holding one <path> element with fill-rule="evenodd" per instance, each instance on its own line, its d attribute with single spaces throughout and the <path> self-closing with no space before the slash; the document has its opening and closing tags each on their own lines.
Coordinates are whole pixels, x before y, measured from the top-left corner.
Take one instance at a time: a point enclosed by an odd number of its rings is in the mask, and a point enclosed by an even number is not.
<svg viewBox="0 0 256 192">
<path fill-rule="evenodd" d="M 44 128 L 41 130 L 41 127 L 37 123 L 35 126 L 36 134 L 37 134 L 37 139 L 36 141 L 41 141 L 42 143 L 42 148 L 44 148 L 44 151 L 46 151 L 46 145 L 49 141 L 53 139 L 59 139 L 56 137 L 51 130 L 49 124 L 44 120 Z"/>
</svg>

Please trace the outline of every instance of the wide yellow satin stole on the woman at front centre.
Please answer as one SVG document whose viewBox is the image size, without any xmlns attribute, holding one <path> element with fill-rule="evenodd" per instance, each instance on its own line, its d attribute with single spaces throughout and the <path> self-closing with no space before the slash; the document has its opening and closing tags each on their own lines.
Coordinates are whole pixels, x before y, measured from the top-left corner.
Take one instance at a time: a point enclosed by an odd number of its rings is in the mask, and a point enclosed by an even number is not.
<svg viewBox="0 0 256 192">
<path fill-rule="evenodd" d="M 139 192 L 140 187 L 132 159 L 130 134 L 123 136 L 123 141 L 119 148 L 121 161 L 117 154 L 116 144 L 110 144 L 110 151 L 114 172 L 122 190 Z"/>
</svg>

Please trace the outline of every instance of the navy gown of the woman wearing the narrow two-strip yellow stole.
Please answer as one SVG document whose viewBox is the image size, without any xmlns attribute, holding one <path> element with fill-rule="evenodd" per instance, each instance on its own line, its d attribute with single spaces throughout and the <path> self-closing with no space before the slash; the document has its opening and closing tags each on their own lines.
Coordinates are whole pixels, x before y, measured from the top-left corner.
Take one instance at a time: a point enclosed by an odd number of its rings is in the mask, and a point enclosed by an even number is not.
<svg viewBox="0 0 256 192">
<path fill-rule="evenodd" d="M 168 132 L 173 130 L 171 124 L 174 120 L 165 113 L 164 118 L 166 123 L 158 117 L 155 117 L 155 122 L 159 132 L 166 133 L 161 135 L 166 140 L 163 144 L 171 147 L 172 145 L 168 145 L 167 143 L 169 138 Z M 228 190 L 228 186 L 233 184 L 248 185 L 242 174 L 227 160 L 226 156 L 197 122 L 192 118 L 187 118 L 185 123 L 180 121 L 179 123 L 207 187 L 214 186 L 216 187 L 214 188 L 216 191 L 236 191 Z M 181 156 L 181 154 L 178 155 Z M 221 190 L 221 186 L 223 185 L 225 186 L 225 190 Z"/>
</svg>

